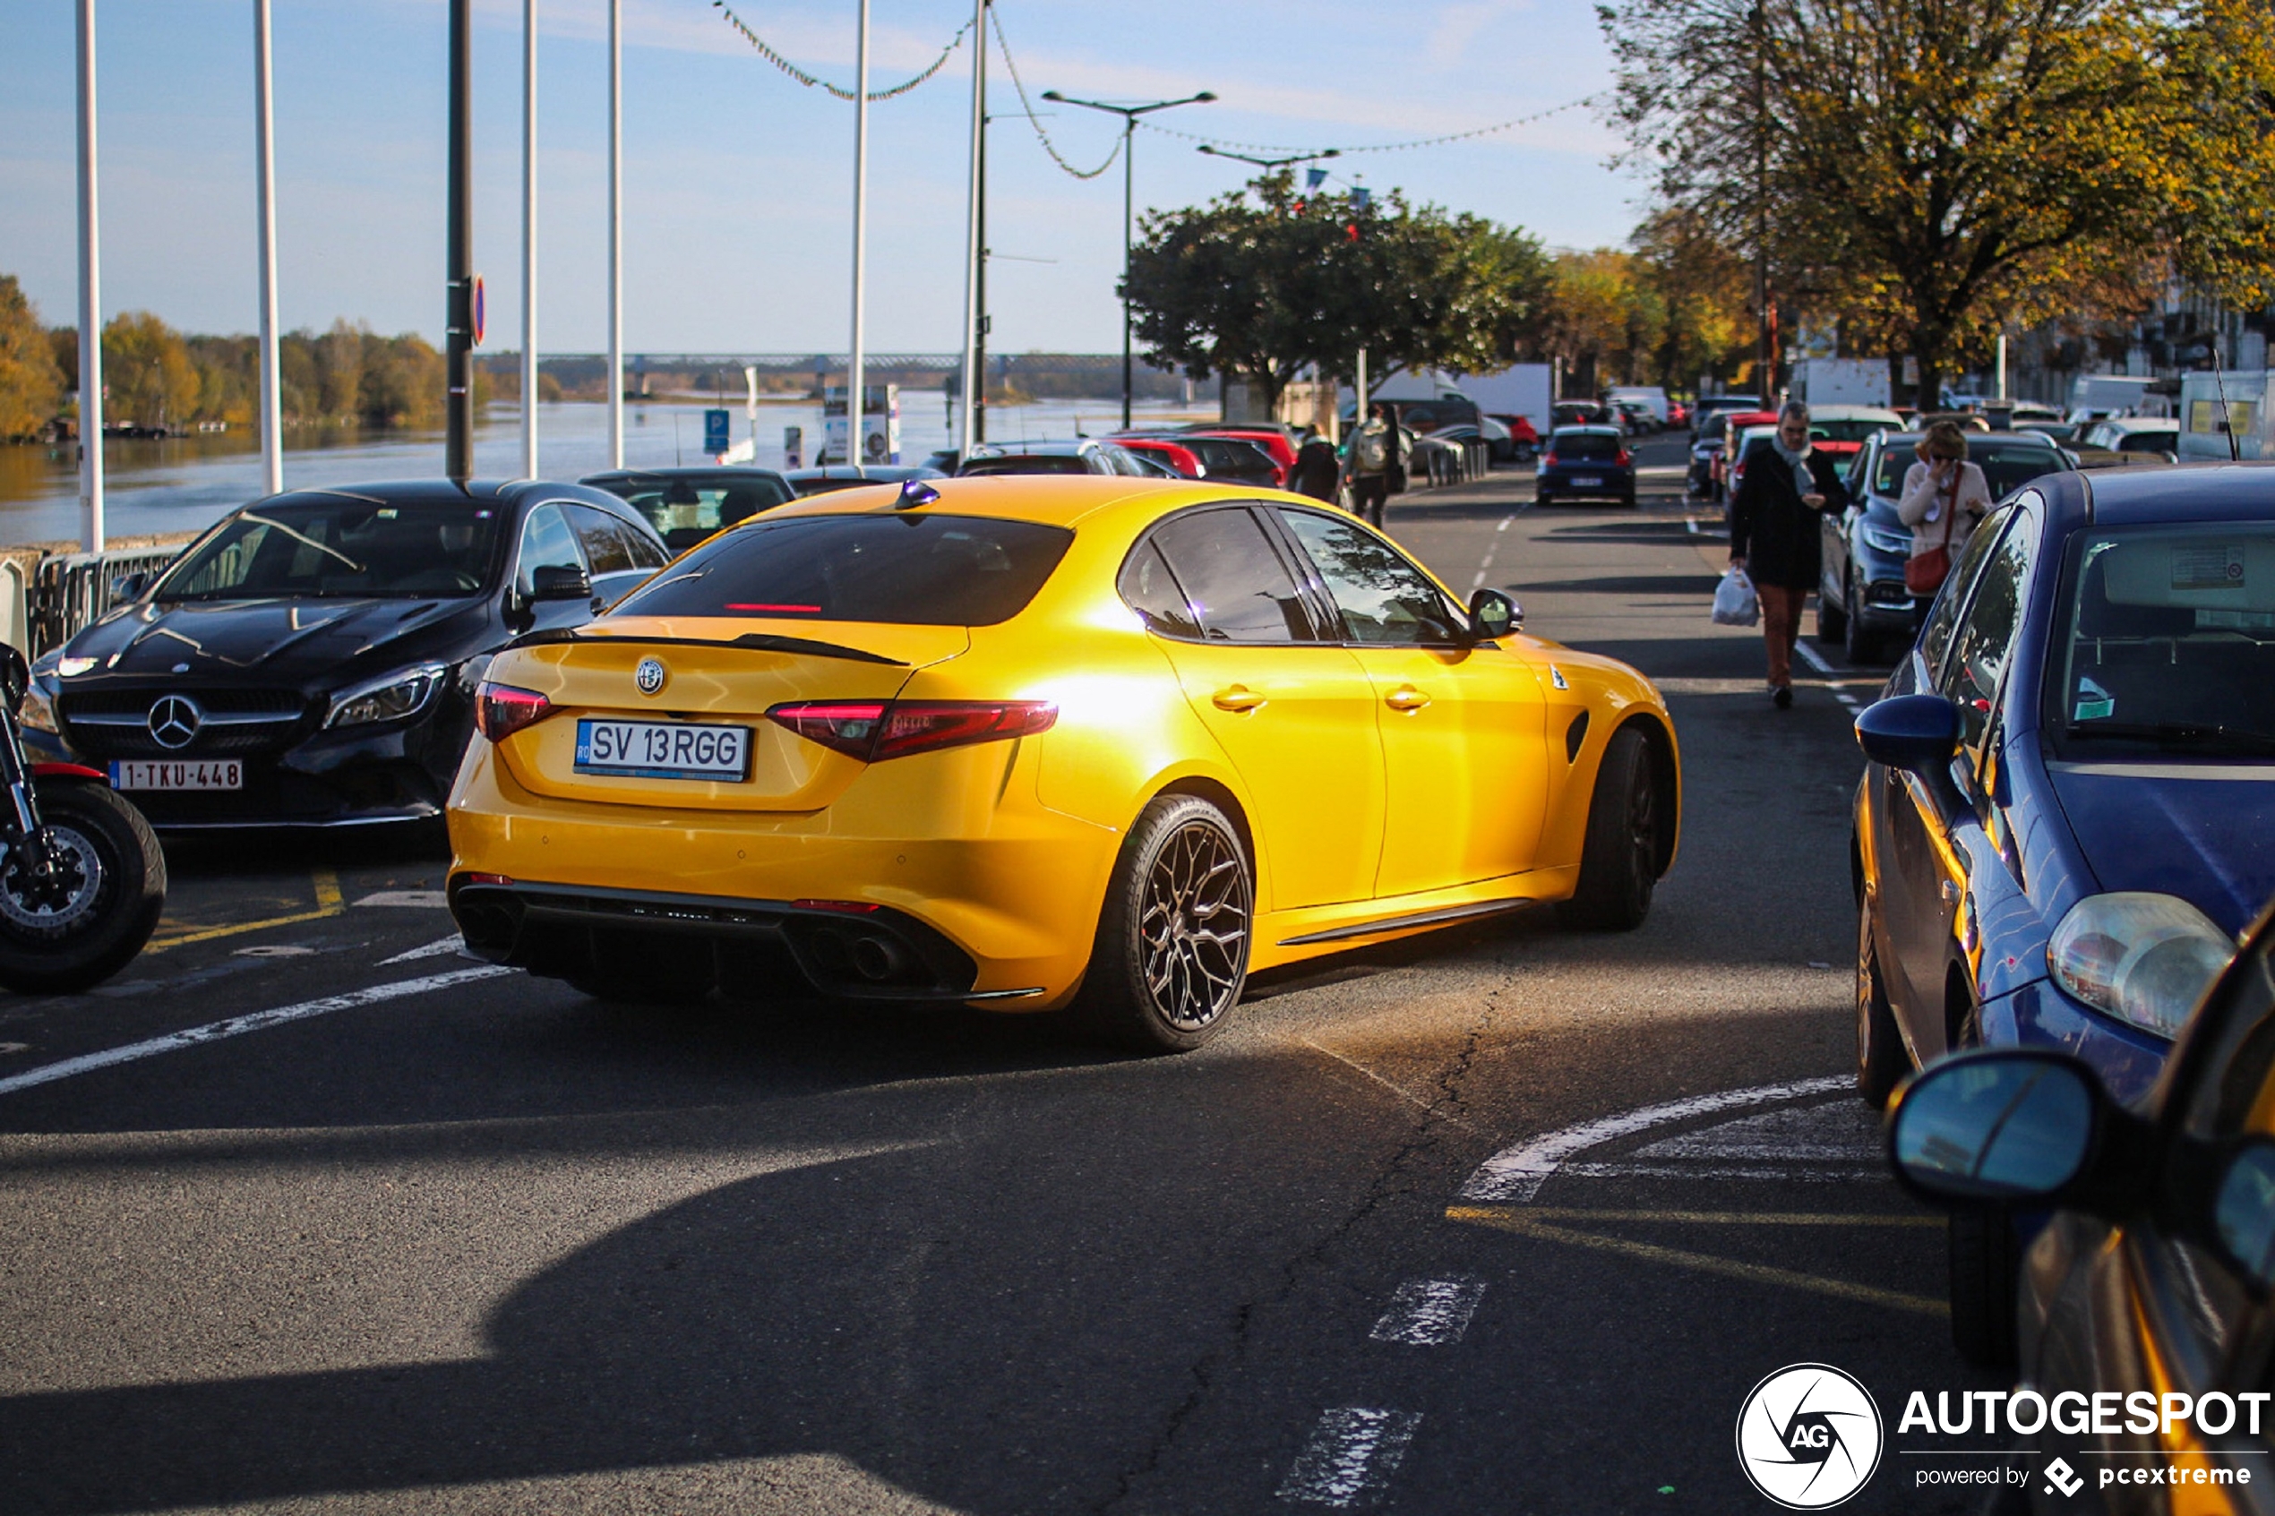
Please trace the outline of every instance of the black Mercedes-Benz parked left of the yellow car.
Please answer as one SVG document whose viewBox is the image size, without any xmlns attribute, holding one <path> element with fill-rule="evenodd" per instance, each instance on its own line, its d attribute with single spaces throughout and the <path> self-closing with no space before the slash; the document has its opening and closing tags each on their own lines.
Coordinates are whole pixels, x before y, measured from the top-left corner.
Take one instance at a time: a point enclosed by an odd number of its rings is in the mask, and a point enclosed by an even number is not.
<svg viewBox="0 0 2275 1516">
<path fill-rule="evenodd" d="M 105 768 L 162 832 L 441 816 L 489 655 L 669 557 L 582 484 L 255 500 L 34 664 L 25 741 Z"/>
</svg>

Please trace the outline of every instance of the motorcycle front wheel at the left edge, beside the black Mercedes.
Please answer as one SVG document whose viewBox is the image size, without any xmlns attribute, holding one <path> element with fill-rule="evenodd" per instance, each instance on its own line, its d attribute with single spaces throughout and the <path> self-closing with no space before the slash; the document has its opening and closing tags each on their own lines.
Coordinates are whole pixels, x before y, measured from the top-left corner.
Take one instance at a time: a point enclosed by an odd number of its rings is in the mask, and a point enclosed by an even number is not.
<svg viewBox="0 0 2275 1516">
<path fill-rule="evenodd" d="M 61 902 L 25 893 L 0 850 L 0 986 L 71 996 L 134 961 L 166 909 L 166 855 L 130 800 L 91 780 L 39 784 L 41 821 L 73 864 Z"/>
</svg>

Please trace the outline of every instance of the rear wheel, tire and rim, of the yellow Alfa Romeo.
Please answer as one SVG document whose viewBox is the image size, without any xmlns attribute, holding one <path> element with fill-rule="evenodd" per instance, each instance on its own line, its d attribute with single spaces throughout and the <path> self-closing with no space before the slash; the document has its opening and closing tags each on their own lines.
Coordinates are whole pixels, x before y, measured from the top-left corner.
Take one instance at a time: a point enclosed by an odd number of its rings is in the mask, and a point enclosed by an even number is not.
<svg viewBox="0 0 2275 1516">
<path fill-rule="evenodd" d="M 1158 796 L 1115 859 L 1076 1016 L 1131 1052 L 1192 1052 L 1240 1002 L 1254 918 L 1233 823 L 1197 796 Z"/>
</svg>

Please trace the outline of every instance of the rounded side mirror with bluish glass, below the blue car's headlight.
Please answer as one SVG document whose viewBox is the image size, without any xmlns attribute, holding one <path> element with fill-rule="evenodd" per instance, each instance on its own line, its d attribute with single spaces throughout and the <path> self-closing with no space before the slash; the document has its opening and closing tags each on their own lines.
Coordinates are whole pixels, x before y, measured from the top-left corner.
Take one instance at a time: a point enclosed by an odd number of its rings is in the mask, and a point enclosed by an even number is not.
<svg viewBox="0 0 2275 1516">
<path fill-rule="evenodd" d="M 1888 1157 L 1927 1200 L 2043 1205 L 2091 1166 L 2104 1109 L 2093 1075 L 2066 1052 L 1963 1052 L 1897 1096 Z"/>
</svg>

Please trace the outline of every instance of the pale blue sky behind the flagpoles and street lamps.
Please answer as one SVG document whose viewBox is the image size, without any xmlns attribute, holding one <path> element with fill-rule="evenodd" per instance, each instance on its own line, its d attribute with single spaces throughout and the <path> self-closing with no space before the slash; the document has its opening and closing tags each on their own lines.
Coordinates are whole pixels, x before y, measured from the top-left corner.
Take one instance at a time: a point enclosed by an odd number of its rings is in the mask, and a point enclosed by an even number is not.
<svg viewBox="0 0 2275 1516">
<path fill-rule="evenodd" d="M 334 316 L 441 330 L 444 0 L 273 0 L 278 264 L 287 327 Z M 853 0 L 735 0 L 803 68 L 849 84 Z M 1301 148 L 1461 132 L 1563 105 L 1608 77 L 1583 0 L 999 0 L 1028 91 L 1108 100 L 1213 89 L 1169 127 Z M 871 89 L 928 64 L 965 0 L 871 0 Z M 250 0 L 98 0 L 105 311 L 250 332 Z M 603 0 L 539 2 L 539 348 L 605 339 Z M 75 309 L 73 7 L 0 0 L 0 273 L 50 323 Z M 521 5 L 475 0 L 475 259 L 489 348 L 519 345 Z M 926 86 L 871 107 L 869 345 L 951 350 L 962 300 L 969 43 Z M 626 0 L 626 343 L 842 350 L 853 107 L 758 57 L 710 0 Z M 994 348 L 1119 348 L 1122 168 L 1076 182 L 1017 118 L 990 59 Z M 1051 109 L 1051 107 L 1042 107 Z M 1090 166 L 1117 123 L 1042 123 Z M 1349 155 L 1374 189 L 1515 223 L 1556 245 L 1618 243 L 1643 186 L 1583 107 L 1472 143 Z M 1140 132 L 1138 205 L 1206 200 L 1247 168 Z M 1049 261 L 1021 261 L 1049 259 Z"/>
</svg>

